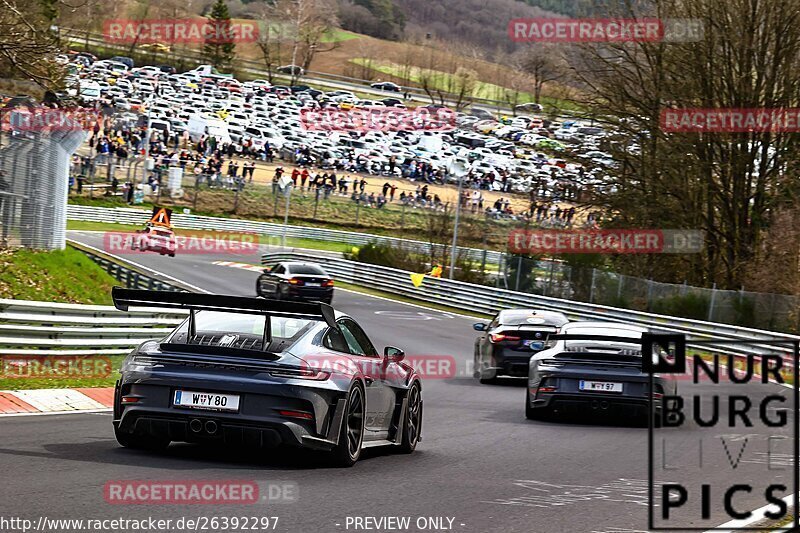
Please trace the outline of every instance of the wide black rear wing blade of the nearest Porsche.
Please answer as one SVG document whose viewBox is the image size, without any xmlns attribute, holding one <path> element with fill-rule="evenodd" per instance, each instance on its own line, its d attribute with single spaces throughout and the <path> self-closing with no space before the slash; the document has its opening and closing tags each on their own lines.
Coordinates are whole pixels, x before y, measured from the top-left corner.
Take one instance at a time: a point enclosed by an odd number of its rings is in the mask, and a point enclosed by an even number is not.
<svg viewBox="0 0 800 533">
<path fill-rule="evenodd" d="M 338 327 L 333 307 L 323 302 L 284 302 L 264 298 L 251 298 L 249 296 L 147 291 L 122 287 L 112 288 L 111 296 L 114 299 L 114 307 L 120 311 L 127 311 L 131 307 L 163 307 L 188 309 L 190 311 L 263 314 L 267 316 L 320 320 L 332 328 Z"/>
</svg>

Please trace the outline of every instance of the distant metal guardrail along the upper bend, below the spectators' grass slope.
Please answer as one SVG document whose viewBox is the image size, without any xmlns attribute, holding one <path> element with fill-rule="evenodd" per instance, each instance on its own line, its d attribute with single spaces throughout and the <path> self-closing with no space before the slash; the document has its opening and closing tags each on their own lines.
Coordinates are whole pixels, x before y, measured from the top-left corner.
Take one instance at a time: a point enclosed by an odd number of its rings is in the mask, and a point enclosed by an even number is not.
<svg viewBox="0 0 800 533">
<path fill-rule="evenodd" d="M 67 218 L 69 220 L 143 225 L 145 222 L 147 222 L 147 220 L 150 219 L 150 216 L 151 213 L 143 209 L 95 207 L 87 205 L 69 205 L 67 207 Z M 273 237 L 280 237 L 283 235 L 284 231 L 284 226 L 282 224 L 273 224 L 271 222 L 208 217 L 200 215 L 185 215 L 182 213 L 173 213 L 172 224 L 179 229 L 247 232 L 257 233 L 260 235 L 269 235 Z M 314 228 L 310 226 L 288 226 L 286 228 L 286 236 L 353 245 L 364 245 L 370 242 L 377 242 L 407 250 L 415 250 L 426 254 L 430 253 L 431 251 L 431 244 L 424 241 L 399 239 L 396 237 L 384 237 L 371 233 L 357 233 L 325 228 Z M 480 248 L 463 247 L 459 247 L 458 250 L 459 253 L 464 254 L 464 256 L 471 261 L 481 261 L 485 253 L 486 262 L 488 264 L 499 264 L 503 257 L 502 253 L 493 250 L 484 251 Z"/>
</svg>

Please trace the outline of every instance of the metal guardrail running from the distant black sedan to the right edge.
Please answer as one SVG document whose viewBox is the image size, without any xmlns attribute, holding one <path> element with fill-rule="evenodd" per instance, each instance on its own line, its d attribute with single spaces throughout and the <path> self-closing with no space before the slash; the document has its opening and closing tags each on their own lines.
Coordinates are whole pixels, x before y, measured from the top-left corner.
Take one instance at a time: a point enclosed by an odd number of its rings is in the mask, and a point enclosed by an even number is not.
<svg viewBox="0 0 800 533">
<path fill-rule="evenodd" d="M 800 341 L 798 335 L 605 307 L 450 279 L 426 277 L 420 287 L 414 287 L 409 277 L 411 272 L 345 259 L 299 253 L 267 253 L 261 259 L 264 265 L 280 261 L 316 262 L 323 265 L 334 278 L 346 283 L 470 312 L 491 315 L 501 309 L 533 307 L 560 311 L 572 320 L 621 322 L 657 329 L 660 332 L 684 333 L 687 335 L 688 341 L 702 341 L 702 345 L 693 347 L 704 351 L 733 355 L 778 355 L 791 358 L 792 344 L 790 343 Z M 775 345 L 776 341 L 785 341 L 786 344 Z M 737 342 L 742 344 L 737 345 Z M 692 346 L 691 342 L 689 345 Z"/>
</svg>

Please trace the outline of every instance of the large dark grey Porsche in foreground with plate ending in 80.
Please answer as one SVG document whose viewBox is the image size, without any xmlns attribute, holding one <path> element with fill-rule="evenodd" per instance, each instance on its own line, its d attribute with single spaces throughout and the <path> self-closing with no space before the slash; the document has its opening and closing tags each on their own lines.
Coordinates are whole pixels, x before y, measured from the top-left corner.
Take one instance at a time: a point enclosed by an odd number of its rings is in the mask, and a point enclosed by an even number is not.
<svg viewBox="0 0 800 533">
<path fill-rule="evenodd" d="M 294 303 L 115 287 L 114 305 L 188 309 L 169 335 L 123 361 L 114 433 L 126 447 L 172 441 L 329 452 L 412 452 L 422 429 L 422 385 L 398 348 L 383 356 L 351 317 Z"/>
</svg>

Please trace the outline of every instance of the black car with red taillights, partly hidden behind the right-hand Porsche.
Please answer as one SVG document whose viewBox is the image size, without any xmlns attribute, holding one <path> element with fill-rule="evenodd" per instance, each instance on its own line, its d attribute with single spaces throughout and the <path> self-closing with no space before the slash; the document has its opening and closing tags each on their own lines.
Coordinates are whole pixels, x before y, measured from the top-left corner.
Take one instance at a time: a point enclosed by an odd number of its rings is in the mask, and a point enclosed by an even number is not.
<svg viewBox="0 0 800 533">
<path fill-rule="evenodd" d="M 488 325 L 474 324 L 481 335 L 475 340 L 473 375 L 481 383 L 497 376 L 527 377 L 531 356 L 550 346 L 548 337 L 567 322 L 554 311 L 505 309 Z"/>
</svg>

